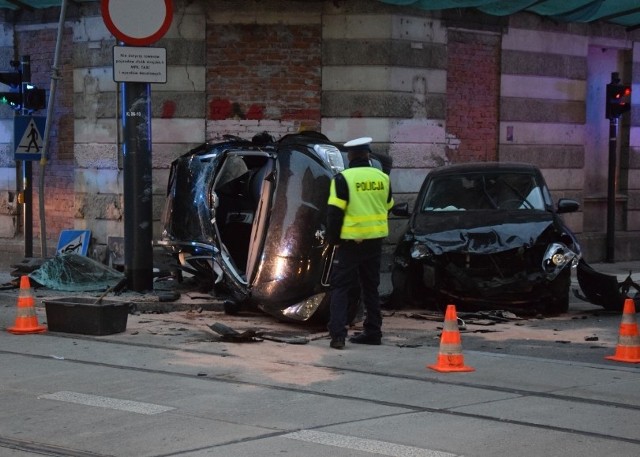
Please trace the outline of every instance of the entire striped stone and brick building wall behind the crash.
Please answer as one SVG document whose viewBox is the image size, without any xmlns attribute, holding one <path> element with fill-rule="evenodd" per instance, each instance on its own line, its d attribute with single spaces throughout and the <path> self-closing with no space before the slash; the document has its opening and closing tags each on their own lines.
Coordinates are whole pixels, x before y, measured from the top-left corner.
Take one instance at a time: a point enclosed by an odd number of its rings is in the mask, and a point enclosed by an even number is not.
<svg viewBox="0 0 640 457">
<path fill-rule="evenodd" d="M 57 13 L 0 20 L 5 68 L 14 54 L 32 53 L 42 64 L 34 81 L 48 88 Z M 116 41 L 99 2 L 72 2 L 64 37 L 45 171 L 47 236 L 55 246 L 63 228 L 87 228 L 104 244 L 109 235 L 123 235 Z M 425 174 L 443 164 L 533 162 L 556 197 L 583 204 L 585 212 L 566 217 L 589 238 L 587 211 L 602 211 L 589 203 L 594 196 L 585 193 L 586 184 L 593 168 L 600 178 L 604 173 L 589 165 L 593 157 L 585 152 L 593 105 L 589 49 L 627 52 L 625 75 L 637 84 L 640 73 L 633 34 L 620 27 L 557 24 L 529 14 L 467 17 L 370 0 L 176 0 L 172 26 L 154 46 L 167 49 L 168 63 L 167 83 L 151 85 L 155 237 L 177 156 L 225 134 L 250 138 L 267 131 L 279 138 L 321 129 L 337 142 L 373 137 L 374 150 L 393 159 L 400 202 L 413 203 Z M 624 121 L 619 157 L 620 235 L 631 239 L 640 231 L 637 112 Z M 0 239 L 19 244 L 12 116 L 0 106 Z M 392 220 L 389 246 L 403 225 Z M 601 230 L 592 238 L 596 258 Z M 632 244 L 621 244 L 621 255 L 640 258 Z"/>
</svg>

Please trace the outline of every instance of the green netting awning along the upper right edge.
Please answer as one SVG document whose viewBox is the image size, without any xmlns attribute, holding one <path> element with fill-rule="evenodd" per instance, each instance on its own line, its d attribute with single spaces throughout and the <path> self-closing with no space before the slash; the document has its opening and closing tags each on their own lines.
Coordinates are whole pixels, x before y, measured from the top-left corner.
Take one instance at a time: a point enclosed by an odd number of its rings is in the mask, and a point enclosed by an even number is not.
<svg viewBox="0 0 640 457">
<path fill-rule="evenodd" d="M 473 8 L 492 16 L 527 11 L 561 22 L 610 22 L 630 30 L 640 27 L 638 0 L 378 0 L 423 10 Z"/>
</svg>

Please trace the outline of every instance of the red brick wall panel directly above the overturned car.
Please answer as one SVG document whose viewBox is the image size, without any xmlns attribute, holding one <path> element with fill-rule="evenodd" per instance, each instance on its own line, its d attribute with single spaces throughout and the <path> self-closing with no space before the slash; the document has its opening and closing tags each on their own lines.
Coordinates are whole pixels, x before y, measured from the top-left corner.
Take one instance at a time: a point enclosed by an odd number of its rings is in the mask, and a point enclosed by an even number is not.
<svg viewBox="0 0 640 457">
<path fill-rule="evenodd" d="M 209 24 L 207 120 L 319 129 L 320 73 L 319 24 Z"/>
</svg>

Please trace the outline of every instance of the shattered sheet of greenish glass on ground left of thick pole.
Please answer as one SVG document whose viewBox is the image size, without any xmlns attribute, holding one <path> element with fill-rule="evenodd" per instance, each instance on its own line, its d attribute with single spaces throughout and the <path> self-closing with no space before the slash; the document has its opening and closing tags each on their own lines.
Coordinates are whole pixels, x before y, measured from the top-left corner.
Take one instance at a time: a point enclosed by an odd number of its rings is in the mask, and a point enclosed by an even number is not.
<svg viewBox="0 0 640 457">
<path fill-rule="evenodd" d="M 74 253 L 55 256 L 29 274 L 29 278 L 43 287 L 66 292 L 110 289 L 124 277 L 117 270 Z"/>
</svg>

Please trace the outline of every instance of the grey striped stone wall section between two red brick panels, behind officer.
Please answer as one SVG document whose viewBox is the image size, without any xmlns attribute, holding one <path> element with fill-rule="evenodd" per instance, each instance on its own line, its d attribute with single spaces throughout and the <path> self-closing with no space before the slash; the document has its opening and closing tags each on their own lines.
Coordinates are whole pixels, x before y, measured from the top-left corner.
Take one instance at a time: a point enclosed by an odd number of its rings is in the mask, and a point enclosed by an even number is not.
<svg viewBox="0 0 640 457">
<path fill-rule="evenodd" d="M 326 4 L 322 131 L 334 141 L 372 137 L 393 160 L 397 202 L 412 205 L 426 172 L 459 144 L 445 128 L 446 38 L 440 19 L 422 11 Z M 391 218 L 390 244 L 405 223 Z"/>
</svg>

